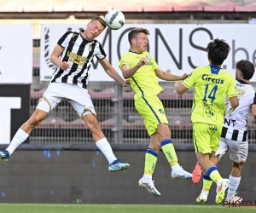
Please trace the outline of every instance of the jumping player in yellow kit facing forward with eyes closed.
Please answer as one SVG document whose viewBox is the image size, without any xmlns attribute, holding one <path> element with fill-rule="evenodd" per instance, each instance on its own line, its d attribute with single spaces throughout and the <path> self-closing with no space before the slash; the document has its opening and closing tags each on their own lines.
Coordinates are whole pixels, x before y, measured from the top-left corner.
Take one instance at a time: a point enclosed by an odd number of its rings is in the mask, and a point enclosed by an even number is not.
<svg viewBox="0 0 256 213">
<path fill-rule="evenodd" d="M 122 56 L 119 68 L 124 78 L 128 78 L 131 88 L 135 91 L 134 100 L 137 112 L 144 121 L 150 136 L 150 144 L 145 155 L 144 175 L 138 183 L 145 187 L 148 193 L 160 196 L 154 187 L 152 175 L 160 148 L 165 153 L 168 162 L 172 167 L 172 178 L 191 178 L 192 174 L 183 170 L 177 163 L 177 155 L 172 145 L 171 131 L 168 126 L 166 112 L 158 94 L 164 89 L 160 87 L 158 78 L 166 81 L 183 80 L 188 77 L 176 76 L 168 72 L 163 72 L 155 62 L 152 55 L 147 51 L 148 30 L 144 28 L 132 29 L 128 34 L 131 49 Z"/>
</svg>

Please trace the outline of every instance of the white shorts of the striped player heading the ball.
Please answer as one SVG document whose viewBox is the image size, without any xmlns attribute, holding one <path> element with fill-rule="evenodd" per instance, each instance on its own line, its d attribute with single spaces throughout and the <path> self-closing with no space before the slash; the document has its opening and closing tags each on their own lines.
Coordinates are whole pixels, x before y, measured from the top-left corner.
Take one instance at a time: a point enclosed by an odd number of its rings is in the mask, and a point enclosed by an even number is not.
<svg viewBox="0 0 256 213">
<path fill-rule="evenodd" d="M 38 100 L 37 108 L 49 112 L 61 101 L 69 102 L 81 118 L 88 113 L 96 116 L 88 90 L 71 83 L 49 83 L 43 97 Z"/>
</svg>

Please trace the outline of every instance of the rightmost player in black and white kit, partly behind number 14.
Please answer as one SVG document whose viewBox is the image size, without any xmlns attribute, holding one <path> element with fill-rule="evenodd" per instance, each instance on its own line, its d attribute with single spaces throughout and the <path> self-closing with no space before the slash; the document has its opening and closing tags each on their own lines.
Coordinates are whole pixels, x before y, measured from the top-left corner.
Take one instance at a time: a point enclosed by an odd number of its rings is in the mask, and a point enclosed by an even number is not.
<svg viewBox="0 0 256 213">
<path fill-rule="evenodd" d="M 254 70 L 253 63 L 248 60 L 240 60 L 236 63 L 236 87 L 239 93 L 239 106 L 234 109 L 231 107 L 229 99 L 226 98 L 225 100 L 224 125 L 214 160 L 218 164 L 224 153 L 229 151 L 233 166 L 229 178 L 230 185 L 224 202 L 228 206 L 239 205 L 242 201 L 241 197 L 236 196 L 236 190 L 241 181 L 242 164 L 247 159 L 247 117 L 250 112 L 253 113 L 253 118 L 256 120 L 256 89 L 250 84 Z M 211 182 L 208 182 L 208 187 L 211 187 L 211 184 Z M 207 201 L 207 192 L 204 189 L 202 189 L 198 199 L 201 202 L 197 202 L 202 204 Z"/>
</svg>

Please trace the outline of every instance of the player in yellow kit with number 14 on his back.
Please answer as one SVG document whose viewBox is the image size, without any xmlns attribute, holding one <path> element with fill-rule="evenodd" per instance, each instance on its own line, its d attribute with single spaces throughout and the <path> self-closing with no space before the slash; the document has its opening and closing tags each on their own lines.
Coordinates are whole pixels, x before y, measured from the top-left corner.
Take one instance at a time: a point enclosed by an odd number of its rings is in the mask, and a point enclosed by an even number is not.
<svg viewBox="0 0 256 213">
<path fill-rule="evenodd" d="M 230 45 L 224 40 L 214 39 L 207 45 L 209 65 L 196 68 L 185 80 L 174 83 L 177 93 L 183 95 L 195 86 L 191 120 L 195 153 L 201 169 L 204 171 L 204 188 L 208 183 L 217 184 L 216 203 L 224 199 L 224 193 L 230 181 L 218 173 L 213 158 L 218 149 L 222 125 L 224 123 L 224 97 L 227 95 L 231 106 L 239 105 L 235 78 L 221 68 L 230 52 Z M 196 200 L 205 203 L 203 196 Z"/>
</svg>

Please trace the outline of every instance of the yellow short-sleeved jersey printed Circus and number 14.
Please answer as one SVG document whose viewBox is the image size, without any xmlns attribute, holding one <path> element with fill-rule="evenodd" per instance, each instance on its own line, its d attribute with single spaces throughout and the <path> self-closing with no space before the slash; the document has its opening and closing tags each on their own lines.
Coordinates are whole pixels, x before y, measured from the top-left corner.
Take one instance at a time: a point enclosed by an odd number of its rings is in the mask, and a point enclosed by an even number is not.
<svg viewBox="0 0 256 213">
<path fill-rule="evenodd" d="M 192 122 L 222 126 L 225 96 L 238 95 L 233 76 L 218 66 L 201 66 L 183 81 L 183 85 L 188 89 L 195 86 Z"/>
</svg>

